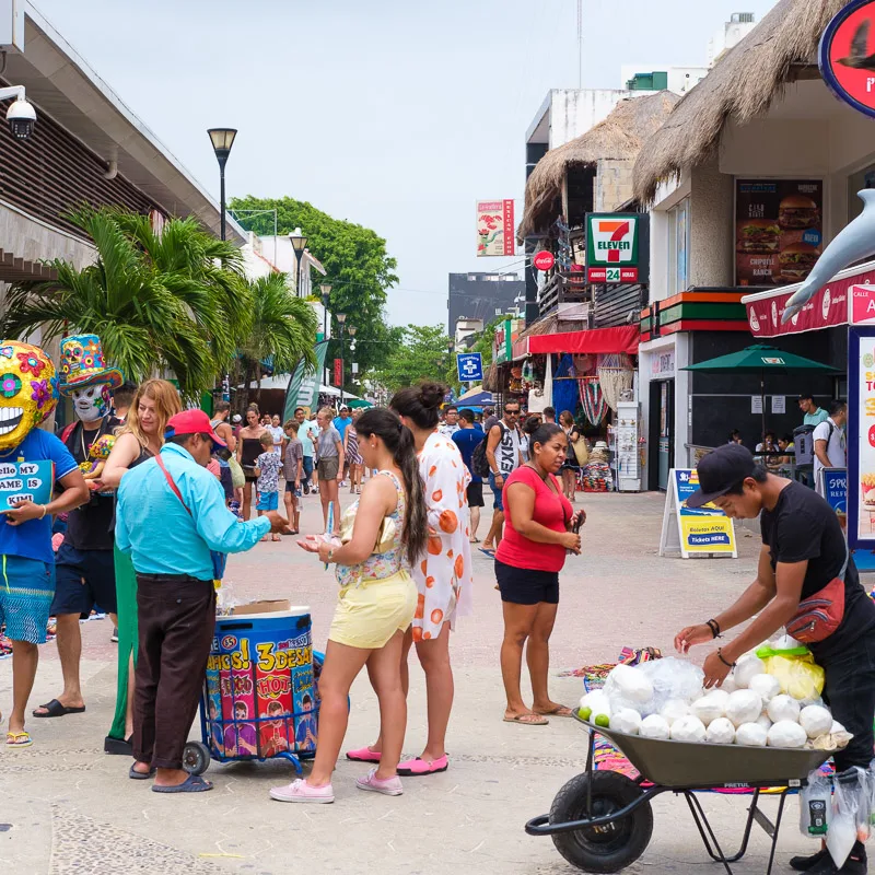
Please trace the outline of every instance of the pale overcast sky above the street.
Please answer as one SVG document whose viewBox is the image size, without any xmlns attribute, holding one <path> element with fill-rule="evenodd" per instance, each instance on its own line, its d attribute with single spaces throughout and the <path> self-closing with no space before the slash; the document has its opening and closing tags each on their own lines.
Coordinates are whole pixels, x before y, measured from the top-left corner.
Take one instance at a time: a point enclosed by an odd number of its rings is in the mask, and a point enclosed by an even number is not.
<svg viewBox="0 0 875 875">
<path fill-rule="evenodd" d="M 704 65 L 732 12 L 773 4 L 583 0 L 583 84 Z M 289 195 L 386 237 L 390 323 L 445 324 L 450 272 L 521 268 L 475 256 L 475 201 L 522 217 L 525 131 L 578 84 L 576 0 L 36 5 L 217 199 L 206 129 L 236 127 L 229 196 Z"/>
</svg>

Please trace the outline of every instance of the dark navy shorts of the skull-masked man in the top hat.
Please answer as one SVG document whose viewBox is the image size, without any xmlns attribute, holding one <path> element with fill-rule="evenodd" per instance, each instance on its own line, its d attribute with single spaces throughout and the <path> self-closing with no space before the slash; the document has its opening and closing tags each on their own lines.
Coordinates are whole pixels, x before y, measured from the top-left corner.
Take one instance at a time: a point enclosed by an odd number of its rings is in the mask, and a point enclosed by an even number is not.
<svg viewBox="0 0 875 875">
<path fill-rule="evenodd" d="M 95 604 L 107 614 L 118 612 L 112 550 L 77 550 L 61 544 L 55 555 L 55 580 L 54 617 L 79 614 L 84 619 Z"/>
</svg>

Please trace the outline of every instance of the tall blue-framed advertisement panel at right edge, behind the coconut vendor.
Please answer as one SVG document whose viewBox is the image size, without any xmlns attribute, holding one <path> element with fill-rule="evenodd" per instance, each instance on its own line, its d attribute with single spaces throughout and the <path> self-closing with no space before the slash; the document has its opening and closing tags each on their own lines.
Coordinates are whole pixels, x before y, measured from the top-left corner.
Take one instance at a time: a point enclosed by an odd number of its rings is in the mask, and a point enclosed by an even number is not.
<svg viewBox="0 0 875 875">
<path fill-rule="evenodd" d="M 848 331 L 848 542 L 875 549 L 875 327 Z M 855 364 L 852 364 L 855 363 Z"/>
</svg>

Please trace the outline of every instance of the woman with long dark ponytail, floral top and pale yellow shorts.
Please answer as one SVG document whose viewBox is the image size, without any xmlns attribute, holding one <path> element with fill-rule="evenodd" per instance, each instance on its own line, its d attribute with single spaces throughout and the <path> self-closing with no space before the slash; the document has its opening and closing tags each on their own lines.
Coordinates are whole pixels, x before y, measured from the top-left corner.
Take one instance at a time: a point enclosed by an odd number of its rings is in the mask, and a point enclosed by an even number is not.
<svg viewBox="0 0 875 875">
<path fill-rule="evenodd" d="M 319 676 L 316 759 L 308 778 L 270 791 L 280 802 L 334 802 L 331 772 L 347 732 L 347 697 L 365 665 L 386 730 L 383 758 L 355 784 L 389 796 L 404 792 L 397 772 L 407 726 L 401 645 L 417 609 L 409 569 L 425 550 L 428 512 L 413 438 L 400 419 L 375 407 L 362 413 L 358 433 L 364 464 L 378 474 L 343 514 L 341 546 L 315 537 L 299 541 L 322 562 L 337 564 L 341 588 Z"/>
</svg>

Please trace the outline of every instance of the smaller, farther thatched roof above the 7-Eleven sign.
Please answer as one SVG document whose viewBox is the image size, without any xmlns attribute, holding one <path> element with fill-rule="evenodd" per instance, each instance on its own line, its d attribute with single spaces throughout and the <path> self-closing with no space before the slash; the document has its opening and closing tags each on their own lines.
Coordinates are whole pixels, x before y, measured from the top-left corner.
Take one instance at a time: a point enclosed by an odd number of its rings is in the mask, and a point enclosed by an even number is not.
<svg viewBox="0 0 875 875">
<path fill-rule="evenodd" d="M 620 101 L 604 121 L 547 152 L 526 182 L 526 210 L 516 232 L 520 241 L 547 231 L 561 213 L 562 183 L 569 170 L 594 167 L 602 159 L 633 160 L 679 100 L 670 91 L 661 91 Z"/>
</svg>

